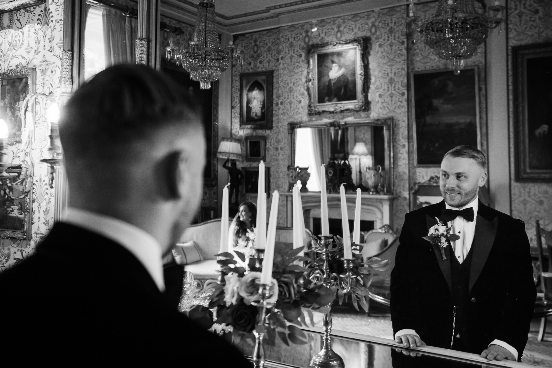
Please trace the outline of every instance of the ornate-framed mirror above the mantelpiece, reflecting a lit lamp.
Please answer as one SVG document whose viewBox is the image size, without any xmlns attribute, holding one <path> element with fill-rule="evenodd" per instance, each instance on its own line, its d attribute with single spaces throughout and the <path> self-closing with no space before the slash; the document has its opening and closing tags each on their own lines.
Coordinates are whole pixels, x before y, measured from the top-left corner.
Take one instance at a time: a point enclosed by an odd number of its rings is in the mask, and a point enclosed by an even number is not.
<svg viewBox="0 0 552 368">
<path fill-rule="evenodd" d="M 392 194 L 392 119 L 290 122 L 290 170 L 309 177 L 306 189 L 320 191 L 320 167 L 326 164 L 326 190 L 360 188 L 369 194 Z M 296 169 L 294 169 L 296 168 Z"/>
</svg>

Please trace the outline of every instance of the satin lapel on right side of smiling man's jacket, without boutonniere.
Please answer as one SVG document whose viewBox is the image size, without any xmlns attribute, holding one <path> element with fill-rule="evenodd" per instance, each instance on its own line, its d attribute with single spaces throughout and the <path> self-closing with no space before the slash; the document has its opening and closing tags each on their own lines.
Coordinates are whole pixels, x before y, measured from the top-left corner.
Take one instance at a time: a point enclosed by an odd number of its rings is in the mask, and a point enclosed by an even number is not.
<svg viewBox="0 0 552 368">
<path fill-rule="evenodd" d="M 470 289 L 479 278 L 481 270 L 487 262 L 492 244 L 495 242 L 496 229 L 498 227 L 498 217 L 487 220 L 481 213 L 485 213 L 484 205 L 479 202 L 479 211 L 477 211 L 477 223 L 475 224 L 474 241 L 471 244 L 472 257 L 470 266 Z M 482 211 L 483 210 L 483 211 Z"/>
</svg>

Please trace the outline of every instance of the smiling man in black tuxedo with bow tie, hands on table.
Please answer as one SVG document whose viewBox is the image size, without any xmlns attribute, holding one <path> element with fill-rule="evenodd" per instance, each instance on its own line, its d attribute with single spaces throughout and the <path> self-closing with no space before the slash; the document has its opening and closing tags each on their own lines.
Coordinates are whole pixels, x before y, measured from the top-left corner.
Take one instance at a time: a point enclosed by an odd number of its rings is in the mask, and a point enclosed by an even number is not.
<svg viewBox="0 0 552 368">
<path fill-rule="evenodd" d="M 477 198 L 485 165 L 476 148 L 453 148 L 440 167 L 444 200 L 405 216 L 391 272 L 391 321 L 406 348 L 427 344 L 521 361 L 537 296 L 529 241 L 523 221 Z M 423 238 L 437 220 L 457 235 L 444 248 Z M 440 366 L 395 352 L 393 359 L 395 366 Z"/>
</svg>

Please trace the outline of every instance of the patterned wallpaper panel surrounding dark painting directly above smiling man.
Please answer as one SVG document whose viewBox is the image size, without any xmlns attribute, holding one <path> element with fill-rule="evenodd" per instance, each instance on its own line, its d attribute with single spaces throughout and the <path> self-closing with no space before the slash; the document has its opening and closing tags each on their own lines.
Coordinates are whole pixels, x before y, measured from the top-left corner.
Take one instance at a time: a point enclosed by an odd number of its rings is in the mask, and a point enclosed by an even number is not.
<svg viewBox="0 0 552 368">
<path fill-rule="evenodd" d="M 476 3 L 478 10 L 482 12 L 481 5 Z M 437 2 L 424 3 L 416 6 L 416 15 L 422 20 L 426 20 L 433 16 L 437 8 Z M 448 69 L 448 61 L 441 60 L 434 56 L 433 50 L 423 43 L 423 37 L 417 34 L 416 42 L 412 42 L 412 38 L 408 39 L 408 73 L 426 70 Z M 465 67 L 477 66 L 478 81 L 479 81 L 479 124 L 481 129 L 481 151 L 487 154 L 487 111 L 486 111 L 486 88 L 485 88 L 485 44 L 478 47 L 476 54 L 469 60 L 466 60 Z M 410 75 L 410 74 L 409 74 Z M 409 76 L 410 78 L 410 76 Z M 409 80 L 410 94 L 410 80 Z M 408 100 L 408 136 L 413 137 L 412 132 L 412 107 L 410 99 Z M 432 175 L 439 174 L 439 168 L 416 167 L 414 162 L 413 139 L 408 141 L 408 152 L 410 159 L 410 185 L 413 183 L 423 183 Z"/>
</svg>

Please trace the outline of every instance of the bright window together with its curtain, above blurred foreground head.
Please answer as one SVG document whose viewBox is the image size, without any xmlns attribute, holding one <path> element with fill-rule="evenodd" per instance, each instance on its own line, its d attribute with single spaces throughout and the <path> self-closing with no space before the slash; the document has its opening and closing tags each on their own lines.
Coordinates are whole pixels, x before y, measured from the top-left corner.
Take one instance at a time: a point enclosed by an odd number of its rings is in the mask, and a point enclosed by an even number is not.
<svg viewBox="0 0 552 368">
<path fill-rule="evenodd" d="M 84 79 L 112 65 L 135 63 L 136 36 L 137 19 L 131 11 L 124 13 L 115 4 L 87 4 Z"/>
</svg>

